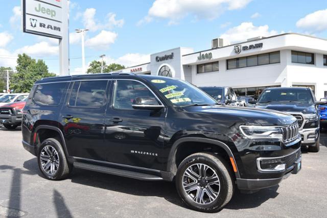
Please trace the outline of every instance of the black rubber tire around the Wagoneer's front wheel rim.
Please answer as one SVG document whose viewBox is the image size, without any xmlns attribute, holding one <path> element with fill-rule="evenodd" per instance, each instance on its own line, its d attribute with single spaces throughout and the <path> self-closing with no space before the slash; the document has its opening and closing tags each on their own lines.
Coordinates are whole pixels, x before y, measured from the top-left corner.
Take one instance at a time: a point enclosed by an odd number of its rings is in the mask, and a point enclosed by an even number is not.
<svg viewBox="0 0 327 218">
<path fill-rule="evenodd" d="M 196 163 L 202 163 L 202 164 L 210 167 L 211 170 L 215 171 L 215 173 L 217 174 L 217 176 L 219 178 L 220 189 L 219 189 L 216 199 L 214 199 L 212 202 L 209 202 L 209 203 L 206 202 L 203 204 L 195 202 L 194 200 L 192 200 L 192 198 L 194 197 L 194 194 L 191 194 L 191 195 L 193 195 L 191 198 L 190 193 L 189 193 L 189 195 L 186 194 L 186 191 L 183 187 L 183 179 L 185 179 L 184 172 L 187 169 L 190 169 L 189 167 L 195 166 Z M 177 188 L 177 192 L 178 192 L 179 196 L 181 197 L 182 201 L 186 205 L 188 205 L 190 208 L 197 210 L 197 211 L 201 211 L 201 212 L 217 212 L 217 211 L 221 210 L 230 201 L 231 197 L 233 196 L 233 193 L 235 191 L 235 184 L 234 184 L 235 182 L 234 182 L 233 178 L 234 177 L 231 173 L 230 166 L 220 156 L 216 156 L 216 155 L 208 154 L 208 153 L 195 153 L 195 154 L 192 154 L 192 155 L 186 157 L 180 163 L 178 170 L 177 170 L 177 174 L 176 174 L 176 188 Z M 197 183 L 197 185 L 198 184 L 200 184 L 200 183 Z M 204 185 L 205 185 L 205 183 L 204 183 Z M 202 186 L 202 184 L 200 184 L 200 186 Z M 207 186 L 209 186 L 209 185 L 207 185 Z M 207 187 L 207 186 L 205 186 L 205 187 Z M 207 189 L 207 188 L 204 188 L 204 189 Z M 198 190 L 200 190 L 200 187 Z M 198 195 L 198 193 L 196 195 Z"/>
</svg>

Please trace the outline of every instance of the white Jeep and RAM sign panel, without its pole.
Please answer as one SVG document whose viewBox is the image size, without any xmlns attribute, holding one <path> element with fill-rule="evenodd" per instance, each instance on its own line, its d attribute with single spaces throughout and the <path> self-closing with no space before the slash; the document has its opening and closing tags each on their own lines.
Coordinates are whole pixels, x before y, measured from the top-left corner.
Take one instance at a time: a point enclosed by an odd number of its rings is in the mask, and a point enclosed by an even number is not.
<svg viewBox="0 0 327 218">
<path fill-rule="evenodd" d="M 23 31 L 61 39 L 64 28 L 62 1 L 67 0 L 23 0 Z"/>
</svg>

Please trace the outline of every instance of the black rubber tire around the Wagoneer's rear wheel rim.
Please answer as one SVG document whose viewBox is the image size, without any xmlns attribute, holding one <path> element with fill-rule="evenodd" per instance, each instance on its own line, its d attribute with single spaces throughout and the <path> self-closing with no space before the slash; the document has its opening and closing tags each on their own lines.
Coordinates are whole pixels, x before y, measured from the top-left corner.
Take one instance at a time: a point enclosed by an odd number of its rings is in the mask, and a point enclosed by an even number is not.
<svg viewBox="0 0 327 218">
<path fill-rule="evenodd" d="M 46 146 L 48 146 L 47 148 L 51 148 L 51 149 L 54 148 L 55 151 L 57 152 L 57 155 L 55 155 L 55 156 L 59 160 L 58 167 L 56 167 L 57 170 L 53 174 L 51 174 L 50 172 L 47 172 L 42 167 L 42 165 L 44 167 L 46 167 L 44 164 L 45 163 L 44 159 L 41 160 L 41 154 L 42 154 L 42 158 L 45 157 L 44 154 L 47 154 L 47 153 L 44 153 L 44 150 L 43 150 L 43 148 L 45 148 Z M 54 153 L 54 152 L 52 152 L 52 153 Z M 47 156 L 49 156 L 49 155 L 47 155 Z M 46 158 L 48 158 L 48 157 L 46 157 Z M 62 146 L 60 144 L 60 141 L 58 139 L 50 138 L 50 139 L 44 140 L 41 143 L 41 145 L 38 149 L 37 162 L 38 162 L 39 169 L 40 169 L 41 173 L 43 174 L 43 176 L 46 179 L 50 179 L 50 180 L 65 179 L 65 178 L 67 178 L 67 176 L 69 175 L 69 173 L 72 170 L 72 165 L 70 163 L 68 163 L 65 153 L 64 153 Z"/>
</svg>

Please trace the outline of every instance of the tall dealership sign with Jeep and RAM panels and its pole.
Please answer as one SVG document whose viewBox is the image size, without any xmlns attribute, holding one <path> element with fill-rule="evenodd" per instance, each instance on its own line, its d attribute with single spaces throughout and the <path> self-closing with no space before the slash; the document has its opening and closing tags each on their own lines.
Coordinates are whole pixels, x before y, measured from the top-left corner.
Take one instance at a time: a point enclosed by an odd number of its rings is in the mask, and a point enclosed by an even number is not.
<svg viewBox="0 0 327 218">
<path fill-rule="evenodd" d="M 68 0 L 22 0 L 22 28 L 59 39 L 60 75 L 69 75 Z"/>
</svg>

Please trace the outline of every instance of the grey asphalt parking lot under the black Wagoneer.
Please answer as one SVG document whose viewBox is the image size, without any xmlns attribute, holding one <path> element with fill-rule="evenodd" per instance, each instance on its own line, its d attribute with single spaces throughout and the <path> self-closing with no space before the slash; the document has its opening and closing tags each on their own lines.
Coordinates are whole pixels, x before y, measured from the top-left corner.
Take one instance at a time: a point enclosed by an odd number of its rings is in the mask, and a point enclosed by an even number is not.
<svg viewBox="0 0 327 218">
<path fill-rule="evenodd" d="M 320 143 L 319 153 L 302 150 L 299 174 L 252 195 L 237 193 L 225 209 L 206 214 L 185 208 L 169 182 L 79 169 L 64 181 L 43 179 L 20 128 L 0 128 L 0 217 L 326 217 L 327 133 Z"/>
</svg>

